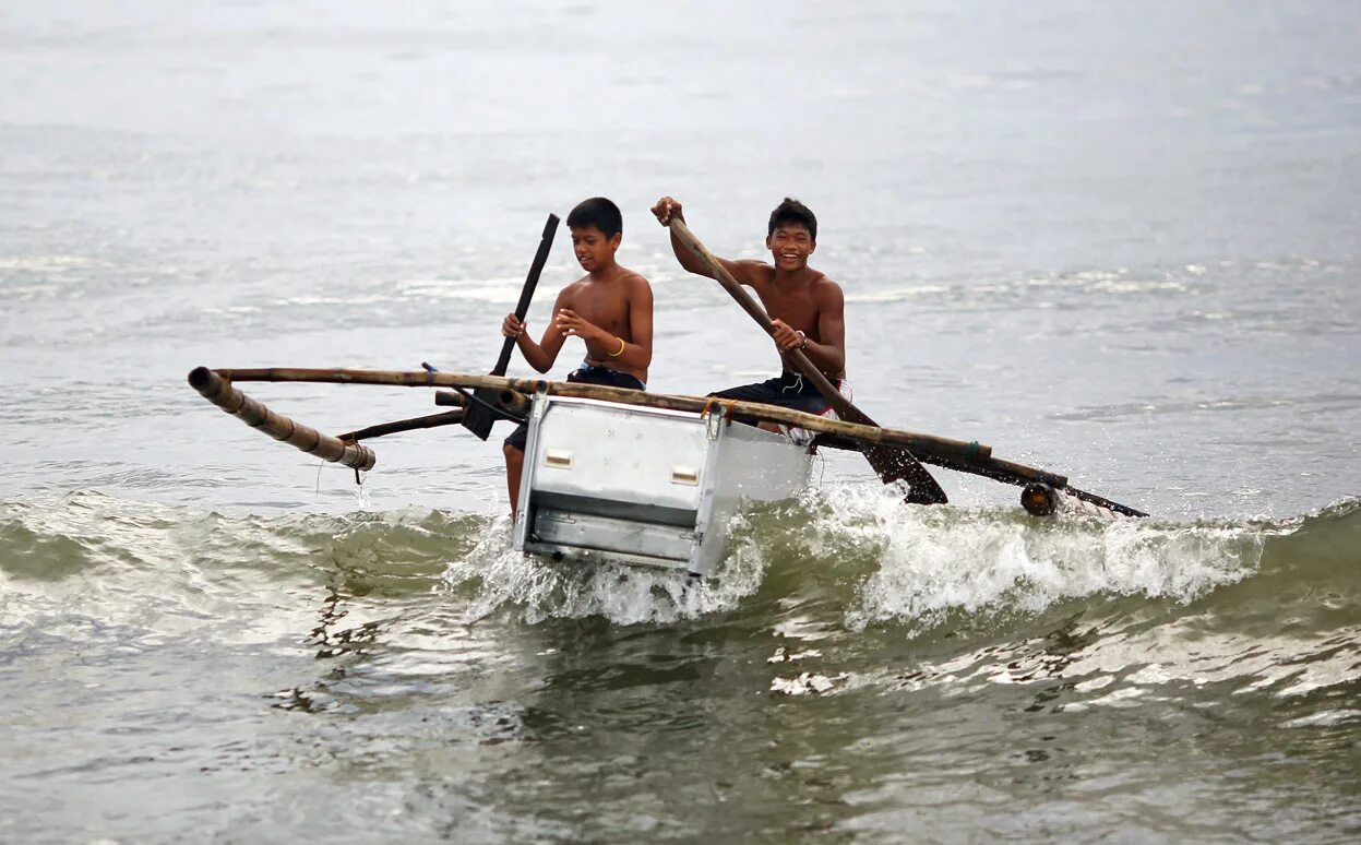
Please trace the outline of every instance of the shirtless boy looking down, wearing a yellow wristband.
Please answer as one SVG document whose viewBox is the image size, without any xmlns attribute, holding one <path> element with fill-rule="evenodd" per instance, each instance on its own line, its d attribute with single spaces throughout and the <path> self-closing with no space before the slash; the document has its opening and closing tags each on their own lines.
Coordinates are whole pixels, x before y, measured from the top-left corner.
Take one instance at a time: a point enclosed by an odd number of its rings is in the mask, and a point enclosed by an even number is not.
<svg viewBox="0 0 1361 845">
<path fill-rule="evenodd" d="M 553 318 L 535 343 L 527 325 L 506 314 L 501 333 L 516 346 L 535 370 L 547 373 L 568 337 L 585 342 L 585 359 L 568 381 L 645 391 L 652 363 L 652 287 L 648 280 L 619 267 L 615 250 L 623 239 L 623 215 L 604 197 L 580 203 L 568 215 L 572 250 L 587 275 L 562 288 L 553 303 Z M 520 472 L 529 426 L 521 425 L 501 449 L 506 456 L 506 487 L 510 513 L 519 509 Z"/>
</svg>

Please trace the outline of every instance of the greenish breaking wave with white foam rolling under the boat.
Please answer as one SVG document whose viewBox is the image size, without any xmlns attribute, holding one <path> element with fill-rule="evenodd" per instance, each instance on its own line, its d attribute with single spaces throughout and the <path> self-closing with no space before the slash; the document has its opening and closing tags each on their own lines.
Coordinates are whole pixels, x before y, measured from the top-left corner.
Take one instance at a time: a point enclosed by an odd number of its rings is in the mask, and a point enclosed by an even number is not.
<svg viewBox="0 0 1361 845">
<path fill-rule="evenodd" d="M 1313 618 L 1361 578 L 1361 502 L 1288 520 L 1130 520 L 1067 512 L 906 508 L 890 490 L 815 490 L 739 516 L 717 576 L 553 565 L 510 548 L 504 517 L 385 513 L 223 514 L 95 493 L 0 502 L 7 595 L 212 596 L 261 584 L 433 592 L 474 623 L 603 616 L 617 625 L 780 612 L 815 597 L 823 623 L 931 635 L 964 619 L 1006 625 L 1074 603 L 1138 600 L 1249 614 L 1253 601 Z M 1305 588 L 1307 585 L 1307 588 Z M 798 600 L 796 600 L 798 599 Z M 1302 600 L 1302 599 L 1301 599 Z M 1334 608 L 1361 623 L 1361 603 Z M 1339 622 L 1339 619 L 1331 619 Z"/>
</svg>

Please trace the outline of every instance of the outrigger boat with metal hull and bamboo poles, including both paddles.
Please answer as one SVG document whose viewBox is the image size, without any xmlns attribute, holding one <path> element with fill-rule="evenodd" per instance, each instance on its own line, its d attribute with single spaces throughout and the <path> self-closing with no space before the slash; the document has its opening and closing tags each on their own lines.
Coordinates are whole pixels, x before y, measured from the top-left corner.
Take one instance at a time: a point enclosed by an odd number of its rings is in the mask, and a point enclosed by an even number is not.
<svg viewBox="0 0 1361 845">
<path fill-rule="evenodd" d="M 671 220 L 670 226 L 766 333 L 773 333 L 766 313 L 685 222 Z M 555 227 L 557 218 L 550 215 L 516 308 L 521 320 Z M 991 446 L 977 441 L 881 427 L 798 350 L 787 358 L 818 385 L 840 419 L 744 401 L 508 378 L 504 373 L 512 344 L 508 339 L 490 376 L 445 373 L 425 363 L 423 370 L 412 371 L 197 367 L 189 373 L 189 384 L 275 440 L 352 467 L 357 480 L 377 461 L 361 441 L 448 425 L 463 425 L 487 440 L 497 419 L 527 420 L 513 543 L 523 552 L 555 561 L 611 561 L 712 576 L 724 557 L 728 523 L 742 503 L 781 501 L 804 490 L 819 448 L 860 452 L 885 483 L 908 486 L 911 503 L 946 501 L 923 467 L 932 464 L 1022 486 L 1021 503 L 1036 516 L 1053 513 L 1060 491 L 1113 513 L 1147 516 L 1078 490 L 1059 474 L 995 459 Z M 235 388 L 246 381 L 448 388 L 436 393 L 436 403 L 453 410 L 332 437 L 248 397 Z M 796 441 L 755 425 L 734 425 L 762 422 L 802 429 L 813 438 Z"/>
</svg>

